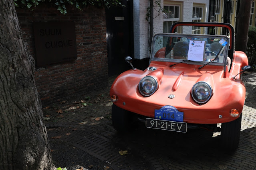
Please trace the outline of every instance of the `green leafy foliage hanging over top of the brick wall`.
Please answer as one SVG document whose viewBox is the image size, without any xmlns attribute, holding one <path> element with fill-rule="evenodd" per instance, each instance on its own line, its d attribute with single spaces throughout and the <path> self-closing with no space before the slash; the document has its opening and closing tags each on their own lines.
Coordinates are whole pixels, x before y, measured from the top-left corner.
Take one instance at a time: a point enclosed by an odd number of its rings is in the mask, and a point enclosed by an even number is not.
<svg viewBox="0 0 256 170">
<path fill-rule="evenodd" d="M 123 6 L 119 0 L 14 0 L 14 4 L 16 7 L 26 7 L 33 10 L 39 3 L 45 1 L 55 4 L 61 14 L 67 14 L 66 5 L 68 4 L 74 5 L 79 10 L 89 4 L 93 6 L 104 6 L 106 8 L 111 6 Z"/>
</svg>

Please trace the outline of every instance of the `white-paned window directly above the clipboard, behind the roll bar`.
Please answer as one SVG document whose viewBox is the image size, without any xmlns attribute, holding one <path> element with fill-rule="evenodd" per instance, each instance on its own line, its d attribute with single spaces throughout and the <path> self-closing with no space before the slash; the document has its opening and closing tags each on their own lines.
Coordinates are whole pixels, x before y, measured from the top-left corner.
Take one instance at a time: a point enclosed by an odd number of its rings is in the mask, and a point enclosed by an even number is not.
<svg viewBox="0 0 256 170">
<path fill-rule="evenodd" d="M 193 7 L 192 22 L 202 22 L 203 19 L 203 8 Z M 200 34 L 201 29 L 197 26 L 192 26 L 192 34 Z"/>
</svg>

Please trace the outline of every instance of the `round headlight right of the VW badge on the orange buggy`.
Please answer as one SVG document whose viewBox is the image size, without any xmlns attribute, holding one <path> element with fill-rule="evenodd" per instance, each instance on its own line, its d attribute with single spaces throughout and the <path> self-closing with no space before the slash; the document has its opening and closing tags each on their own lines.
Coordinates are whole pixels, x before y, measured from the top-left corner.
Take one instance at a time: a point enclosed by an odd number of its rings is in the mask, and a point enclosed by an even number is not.
<svg viewBox="0 0 256 170">
<path fill-rule="evenodd" d="M 204 104 L 212 97 L 212 87 L 204 81 L 199 81 L 192 87 L 191 95 L 196 103 Z"/>
</svg>

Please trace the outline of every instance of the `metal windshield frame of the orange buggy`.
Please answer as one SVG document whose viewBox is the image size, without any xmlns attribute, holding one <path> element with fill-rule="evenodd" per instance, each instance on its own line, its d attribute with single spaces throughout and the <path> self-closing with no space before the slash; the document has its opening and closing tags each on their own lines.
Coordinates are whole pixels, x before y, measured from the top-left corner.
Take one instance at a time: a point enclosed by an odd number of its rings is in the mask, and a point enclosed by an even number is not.
<svg viewBox="0 0 256 170">
<path fill-rule="evenodd" d="M 155 40 L 157 37 L 159 36 L 171 36 L 171 37 L 179 37 L 179 38 L 187 38 L 187 37 L 193 37 L 193 38 L 219 38 L 219 39 L 224 39 L 227 44 L 226 46 L 226 50 L 224 53 L 224 61 L 223 63 L 217 63 L 217 62 L 212 62 L 209 63 L 209 65 L 219 65 L 219 66 L 224 66 L 227 64 L 227 56 L 228 56 L 228 49 L 229 49 L 229 43 L 230 43 L 230 39 L 228 38 L 228 36 L 224 36 L 224 35 L 201 35 L 201 34 L 175 34 L 175 33 L 157 33 L 153 36 L 152 38 L 152 45 L 151 45 L 151 52 L 150 52 L 150 59 L 149 59 L 149 65 L 151 63 L 151 61 L 161 61 L 161 62 L 169 62 L 169 63 L 179 63 L 181 61 L 185 61 L 187 59 L 168 59 L 168 58 L 154 58 L 154 47 L 155 47 Z M 204 63 L 208 63 L 208 61 L 204 61 L 202 62 L 202 64 L 199 65 L 204 65 Z M 189 62 L 189 64 L 192 64 Z M 194 63 L 194 64 L 198 64 L 198 63 Z M 226 67 L 224 67 L 224 71 L 226 71 Z"/>
</svg>

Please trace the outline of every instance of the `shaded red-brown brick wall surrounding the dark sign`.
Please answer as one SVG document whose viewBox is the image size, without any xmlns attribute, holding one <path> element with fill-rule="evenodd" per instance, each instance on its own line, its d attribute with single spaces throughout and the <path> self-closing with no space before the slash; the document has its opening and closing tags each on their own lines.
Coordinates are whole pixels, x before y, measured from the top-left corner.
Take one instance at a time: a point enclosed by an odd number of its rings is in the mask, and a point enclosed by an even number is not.
<svg viewBox="0 0 256 170">
<path fill-rule="evenodd" d="M 17 8 L 24 42 L 35 57 L 33 22 L 74 22 L 77 59 L 37 67 L 36 87 L 42 105 L 107 87 L 108 65 L 105 9 L 89 6 L 83 11 L 67 6 L 63 15 L 51 4 L 42 4 L 34 11 Z"/>
</svg>

